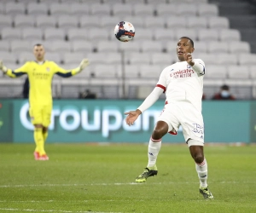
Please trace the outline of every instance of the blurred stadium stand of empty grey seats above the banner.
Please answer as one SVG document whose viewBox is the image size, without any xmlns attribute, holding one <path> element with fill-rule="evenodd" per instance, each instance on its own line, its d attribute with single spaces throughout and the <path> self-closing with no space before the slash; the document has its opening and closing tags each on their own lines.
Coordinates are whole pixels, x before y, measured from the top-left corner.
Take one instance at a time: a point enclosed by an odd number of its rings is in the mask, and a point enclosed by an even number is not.
<svg viewBox="0 0 256 213">
<path fill-rule="evenodd" d="M 1 0 L 0 59 L 15 69 L 33 60 L 33 44 L 43 43 L 46 58 L 67 69 L 90 59 L 77 77 L 55 77 L 55 98 L 78 98 L 90 88 L 100 99 L 137 99 L 176 60 L 177 38 L 186 35 L 207 64 L 206 99 L 226 83 L 237 99 L 252 100 L 255 11 L 253 0 Z M 120 20 L 135 26 L 133 42 L 114 37 Z M 24 78 L 0 78 L 0 97 L 21 97 Z"/>
</svg>

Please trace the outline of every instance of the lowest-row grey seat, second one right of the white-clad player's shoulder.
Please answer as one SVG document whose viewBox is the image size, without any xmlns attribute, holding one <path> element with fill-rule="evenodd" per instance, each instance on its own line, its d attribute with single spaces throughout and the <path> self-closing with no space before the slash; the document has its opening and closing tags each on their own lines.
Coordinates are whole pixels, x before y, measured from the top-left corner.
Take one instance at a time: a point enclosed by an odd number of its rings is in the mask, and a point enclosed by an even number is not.
<svg viewBox="0 0 256 213">
<path fill-rule="evenodd" d="M 227 66 L 228 70 L 228 77 L 229 78 L 236 78 L 236 79 L 249 79 L 250 72 L 248 66 L 234 66 L 230 65 Z"/>
</svg>

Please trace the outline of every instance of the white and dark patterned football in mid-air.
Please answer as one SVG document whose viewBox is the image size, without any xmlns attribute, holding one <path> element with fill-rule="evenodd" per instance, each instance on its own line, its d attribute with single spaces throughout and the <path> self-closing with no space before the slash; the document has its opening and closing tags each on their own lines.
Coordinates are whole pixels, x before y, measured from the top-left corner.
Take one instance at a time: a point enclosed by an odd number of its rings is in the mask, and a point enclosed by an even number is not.
<svg viewBox="0 0 256 213">
<path fill-rule="evenodd" d="M 135 36 L 135 28 L 128 21 L 120 21 L 114 27 L 114 35 L 120 42 L 130 42 Z"/>
</svg>

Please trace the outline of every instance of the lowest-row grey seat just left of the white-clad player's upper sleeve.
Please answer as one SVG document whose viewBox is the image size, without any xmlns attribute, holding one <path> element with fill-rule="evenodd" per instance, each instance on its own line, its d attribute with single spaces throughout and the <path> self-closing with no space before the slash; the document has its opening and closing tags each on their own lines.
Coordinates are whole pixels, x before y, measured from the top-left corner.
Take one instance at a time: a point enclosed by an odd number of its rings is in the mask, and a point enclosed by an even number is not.
<svg viewBox="0 0 256 213">
<path fill-rule="evenodd" d="M 159 66 L 159 65 L 142 65 L 142 66 L 140 66 L 141 78 L 154 78 L 155 83 L 157 83 L 158 79 L 160 78 L 161 72 L 162 72 L 162 69 L 161 69 L 161 66 Z"/>
</svg>

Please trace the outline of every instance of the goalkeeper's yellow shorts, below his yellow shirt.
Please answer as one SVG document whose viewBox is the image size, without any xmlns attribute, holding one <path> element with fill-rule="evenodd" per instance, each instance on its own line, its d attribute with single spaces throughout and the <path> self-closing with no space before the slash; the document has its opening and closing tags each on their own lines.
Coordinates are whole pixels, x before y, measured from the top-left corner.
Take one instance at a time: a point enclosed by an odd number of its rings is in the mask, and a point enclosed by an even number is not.
<svg viewBox="0 0 256 213">
<path fill-rule="evenodd" d="M 43 124 L 48 127 L 50 124 L 52 106 L 31 106 L 29 115 L 32 124 Z"/>
</svg>

